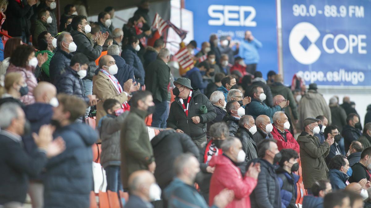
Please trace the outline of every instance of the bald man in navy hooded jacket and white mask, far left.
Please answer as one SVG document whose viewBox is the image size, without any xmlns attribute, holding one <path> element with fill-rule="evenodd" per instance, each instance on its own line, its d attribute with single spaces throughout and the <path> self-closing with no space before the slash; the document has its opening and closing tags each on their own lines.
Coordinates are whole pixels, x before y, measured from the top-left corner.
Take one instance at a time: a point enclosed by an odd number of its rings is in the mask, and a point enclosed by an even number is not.
<svg viewBox="0 0 371 208">
<path fill-rule="evenodd" d="M 52 121 L 53 107 L 58 107 L 58 99 L 56 98 L 57 89 L 53 84 L 48 82 L 39 82 L 33 90 L 36 102 L 24 107 L 26 119 L 25 129 L 29 130 L 22 137 L 24 149 L 28 154 L 37 150 L 37 145 L 33 140 L 31 133 L 39 132 L 40 127 L 44 124 L 50 124 Z M 28 128 L 26 127 L 28 123 Z M 40 175 L 30 177 L 29 193 L 33 206 L 43 207 L 44 186 L 41 182 Z"/>
</svg>

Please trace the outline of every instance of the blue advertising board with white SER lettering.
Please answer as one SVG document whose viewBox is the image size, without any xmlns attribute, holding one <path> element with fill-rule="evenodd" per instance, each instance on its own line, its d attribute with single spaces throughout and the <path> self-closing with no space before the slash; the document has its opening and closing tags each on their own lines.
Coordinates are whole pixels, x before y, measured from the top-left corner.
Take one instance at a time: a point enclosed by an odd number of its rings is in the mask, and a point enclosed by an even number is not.
<svg viewBox="0 0 371 208">
<path fill-rule="evenodd" d="M 185 9 L 193 11 L 194 39 L 199 47 L 212 33 L 239 41 L 250 30 L 263 44 L 258 49 L 257 70 L 264 77 L 269 70 L 278 71 L 275 1 L 185 0 Z"/>
</svg>

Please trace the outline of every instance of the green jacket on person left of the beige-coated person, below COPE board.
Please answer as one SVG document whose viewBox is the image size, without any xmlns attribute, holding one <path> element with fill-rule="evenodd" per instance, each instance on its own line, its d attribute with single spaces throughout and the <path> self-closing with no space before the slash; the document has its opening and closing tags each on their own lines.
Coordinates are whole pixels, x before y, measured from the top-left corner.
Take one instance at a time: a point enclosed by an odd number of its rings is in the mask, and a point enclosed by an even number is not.
<svg viewBox="0 0 371 208">
<path fill-rule="evenodd" d="M 285 113 L 289 113 L 289 107 L 291 108 L 292 115 L 295 120 L 298 120 L 298 109 L 296 108 L 296 102 L 290 88 L 286 87 L 282 83 L 275 82 L 272 85 L 269 85 L 270 91 L 272 91 L 272 96 L 282 95 L 286 100 L 290 101 L 288 107 L 285 108 Z"/>
</svg>

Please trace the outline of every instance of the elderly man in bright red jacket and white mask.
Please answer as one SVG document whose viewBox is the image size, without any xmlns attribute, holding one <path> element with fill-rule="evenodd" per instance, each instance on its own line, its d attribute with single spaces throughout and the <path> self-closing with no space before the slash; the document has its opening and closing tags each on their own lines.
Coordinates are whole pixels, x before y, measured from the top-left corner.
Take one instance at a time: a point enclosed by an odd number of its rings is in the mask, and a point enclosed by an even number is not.
<svg viewBox="0 0 371 208">
<path fill-rule="evenodd" d="M 277 140 L 278 150 L 293 149 L 300 153 L 299 144 L 296 142 L 293 135 L 288 131 L 290 123 L 283 111 L 277 111 L 273 114 L 273 131 L 272 135 Z"/>
</svg>

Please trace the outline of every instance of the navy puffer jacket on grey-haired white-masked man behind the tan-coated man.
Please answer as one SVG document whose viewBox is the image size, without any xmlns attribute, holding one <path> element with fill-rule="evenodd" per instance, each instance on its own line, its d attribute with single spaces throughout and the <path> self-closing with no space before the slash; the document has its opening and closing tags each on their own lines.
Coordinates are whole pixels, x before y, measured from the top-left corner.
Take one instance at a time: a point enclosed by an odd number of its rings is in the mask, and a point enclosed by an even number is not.
<svg viewBox="0 0 371 208">
<path fill-rule="evenodd" d="M 71 58 L 71 53 L 67 53 L 66 51 L 63 51 L 57 47 L 57 50 L 52 59 L 50 59 L 49 64 L 49 75 L 53 84 L 55 84 L 55 82 L 63 74 L 62 70 L 70 66 Z"/>
</svg>

